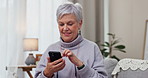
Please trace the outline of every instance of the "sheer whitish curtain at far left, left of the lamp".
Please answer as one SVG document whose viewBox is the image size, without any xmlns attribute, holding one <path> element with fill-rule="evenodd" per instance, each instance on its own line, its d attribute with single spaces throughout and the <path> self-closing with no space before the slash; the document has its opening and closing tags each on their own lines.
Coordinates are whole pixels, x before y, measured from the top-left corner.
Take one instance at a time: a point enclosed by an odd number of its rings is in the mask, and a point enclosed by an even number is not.
<svg viewBox="0 0 148 78">
<path fill-rule="evenodd" d="M 16 78 L 24 32 L 25 0 L 0 0 L 0 78 Z"/>
</svg>

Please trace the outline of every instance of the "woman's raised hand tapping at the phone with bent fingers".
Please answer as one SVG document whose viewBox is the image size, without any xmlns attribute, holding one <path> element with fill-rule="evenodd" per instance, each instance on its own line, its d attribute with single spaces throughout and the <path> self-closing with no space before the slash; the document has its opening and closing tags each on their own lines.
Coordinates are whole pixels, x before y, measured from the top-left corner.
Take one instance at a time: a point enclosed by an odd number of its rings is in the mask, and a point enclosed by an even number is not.
<svg viewBox="0 0 148 78">
<path fill-rule="evenodd" d="M 80 61 L 80 60 L 75 56 L 75 54 L 74 54 L 72 51 L 70 51 L 70 50 L 65 49 L 65 50 L 63 51 L 63 56 L 68 57 L 69 60 L 70 60 L 74 65 L 76 65 L 77 67 L 80 67 L 80 66 L 83 65 L 83 62 Z"/>
</svg>

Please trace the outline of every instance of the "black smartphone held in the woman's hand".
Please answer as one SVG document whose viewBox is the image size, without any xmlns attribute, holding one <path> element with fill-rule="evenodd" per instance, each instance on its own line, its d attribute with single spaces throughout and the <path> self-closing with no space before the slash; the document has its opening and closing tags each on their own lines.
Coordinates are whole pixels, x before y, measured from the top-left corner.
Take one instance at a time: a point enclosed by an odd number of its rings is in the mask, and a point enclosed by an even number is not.
<svg viewBox="0 0 148 78">
<path fill-rule="evenodd" d="M 48 54 L 51 62 L 62 58 L 61 53 L 58 51 L 49 51 Z"/>
</svg>

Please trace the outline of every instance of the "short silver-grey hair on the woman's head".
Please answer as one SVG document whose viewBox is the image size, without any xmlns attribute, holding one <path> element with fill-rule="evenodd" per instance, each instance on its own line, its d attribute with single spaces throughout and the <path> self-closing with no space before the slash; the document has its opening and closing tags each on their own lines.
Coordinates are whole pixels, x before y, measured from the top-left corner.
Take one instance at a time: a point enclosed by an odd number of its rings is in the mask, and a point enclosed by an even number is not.
<svg viewBox="0 0 148 78">
<path fill-rule="evenodd" d="M 65 14 L 74 14 L 77 18 L 77 21 L 81 21 L 83 19 L 82 15 L 82 6 L 79 3 L 73 4 L 72 2 L 67 2 L 60 5 L 57 9 L 57 20 L 61 18 Z"/>
</svg>

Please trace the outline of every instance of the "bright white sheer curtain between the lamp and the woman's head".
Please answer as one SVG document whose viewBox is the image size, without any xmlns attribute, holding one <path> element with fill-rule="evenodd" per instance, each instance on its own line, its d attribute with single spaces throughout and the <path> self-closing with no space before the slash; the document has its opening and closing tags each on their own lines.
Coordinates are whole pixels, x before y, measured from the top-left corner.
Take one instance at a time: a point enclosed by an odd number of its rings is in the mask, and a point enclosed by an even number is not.
<svg viewBox="0 0 148 78">
<path fill-rule="evenodd" d="M 26 37 L 39 39 L 39 52 L 60 38 L 56 21 L 57 7 L 68 0 L 27 0 Z"/>
</svg>

